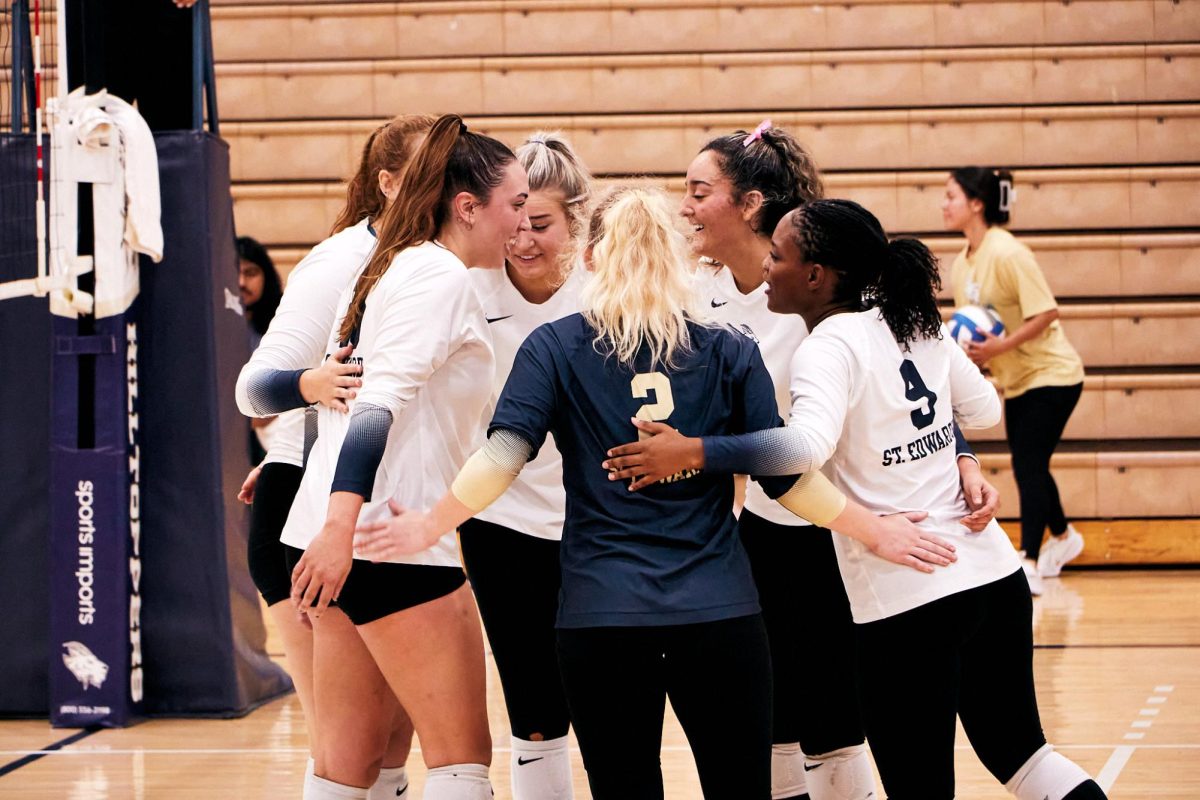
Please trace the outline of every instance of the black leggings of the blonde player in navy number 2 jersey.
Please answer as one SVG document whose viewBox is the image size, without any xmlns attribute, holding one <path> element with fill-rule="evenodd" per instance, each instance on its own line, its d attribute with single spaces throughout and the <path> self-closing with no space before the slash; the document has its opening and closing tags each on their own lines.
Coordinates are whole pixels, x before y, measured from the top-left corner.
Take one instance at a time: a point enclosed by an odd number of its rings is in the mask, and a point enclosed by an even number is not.
<svg viewBox="0 0 1200 800">
<path fill-rule="evenodd" d="M 560 628 L 558 660 L 594 800 L 660 800 L 667 697 L 706 798 L 770 798 L 770 663 L 762 618 Z"/>
</svg>

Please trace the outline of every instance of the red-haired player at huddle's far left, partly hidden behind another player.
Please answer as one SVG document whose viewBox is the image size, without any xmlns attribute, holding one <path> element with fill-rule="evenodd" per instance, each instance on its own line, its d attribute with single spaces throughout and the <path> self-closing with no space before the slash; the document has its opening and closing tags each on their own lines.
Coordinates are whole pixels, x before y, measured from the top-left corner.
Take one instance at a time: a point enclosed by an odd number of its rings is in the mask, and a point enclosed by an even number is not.
<svg viewBox="0 0 1200 800">
<path fill-rule="evenodd" d="M 320 402 L 344 409 L 346 399 L 354 396 L 359 384 L 356 366 L 329 359 L 323 367 L 317 367 L 325 355 L 337 299 L 374 247 L 371 221 L 395 199 L 401 173 L 432 124 L 432 116 L 412 114 L 397 116 L 372 131 L 347 187 L 346 205 L 334 223 L 332 235 L 292 270 L 288 290 L 270 327 L 263 326 L 262 343 L 238 377 L 236 397 L 242 413 L 253 417 L 278 413 L 275 427 L 284 426 L 277 432 L 263 464 L 251 471 L 240 497 L 253 504 L 248 542 L 251 577 L 280 632 L 312 752 L 317 750 L 318 735 L 312 700 L 312 630 L 295 608 L 283 602 L 292 593 L 292 577 L 280 542 L 280 533 L 304 475 L 305 410 L 294 405 Z M 299 379 L 299 399 L 271 395 L 271 381 L 280 371 L 295 374 L 301 369 L 307 372 Z M 412 745 L 412 723 L 403 709 L 395 705 L 390 744 L 379 777 L 372 784 L 371 800 L 394 798 L 397 790 L 408 786 L 404 762 Z M 383 730 L 382 735 L 386 739 L 389 732 Z M 306 774 L 312 768 L 310 758 Z"/>
</svg>

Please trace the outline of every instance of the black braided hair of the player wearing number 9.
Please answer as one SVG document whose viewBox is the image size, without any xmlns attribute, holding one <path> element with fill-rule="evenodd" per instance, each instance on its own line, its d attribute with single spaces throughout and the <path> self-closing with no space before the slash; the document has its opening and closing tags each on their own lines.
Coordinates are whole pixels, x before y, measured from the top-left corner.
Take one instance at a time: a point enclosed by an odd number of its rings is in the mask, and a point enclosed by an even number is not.
<svg viewBox="0 0 1200 800">
<path fill-rule="evenodd" d="M 877 307 L 896 342 L 941 338 L 937 258 L 916 239 L 888 241 L 875 215 L 852 200 L 814 200 L 792 215 L 804 261 L 838 273 L 834 302 L 854 311 Z"/>
</svg>

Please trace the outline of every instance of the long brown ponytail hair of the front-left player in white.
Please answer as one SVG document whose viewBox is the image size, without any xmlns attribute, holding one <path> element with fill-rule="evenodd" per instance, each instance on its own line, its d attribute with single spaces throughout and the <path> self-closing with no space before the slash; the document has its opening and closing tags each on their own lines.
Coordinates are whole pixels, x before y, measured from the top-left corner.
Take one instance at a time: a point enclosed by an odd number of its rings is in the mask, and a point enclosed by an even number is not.
<svg viewBox="0 0 1200 800">
<path fill-rule="evenodd" d="M 496 139 L 467 131 L 457 114 L 438 118 L 413 155 L 396 201 L 377 219 L 376 248 L 354 283 L 349 308 L 337 331 L 342 342 L 356 336 L 367 295 L 391 266 L 392 258 L 434 239 L 449 219 L 450 204 L 460 192 L 470 192 L 486 204 L 515 157 Z"/>
</svg>

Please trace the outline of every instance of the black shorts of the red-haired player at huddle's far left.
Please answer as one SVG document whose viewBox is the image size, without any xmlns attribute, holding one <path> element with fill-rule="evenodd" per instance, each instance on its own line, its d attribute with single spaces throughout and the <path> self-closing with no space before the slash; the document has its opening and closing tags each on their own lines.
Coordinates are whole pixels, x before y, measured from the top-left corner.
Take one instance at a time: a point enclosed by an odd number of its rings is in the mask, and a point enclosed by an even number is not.
<svg viewBox="0 0 1200 800">
<path fill-rule="evenodd" d="M 292 594 L 292 572 L 283 558 L 283 523 L 288 521 L 292 500 L 300 488 L 304 469 L 293 464 L 272 462 L 263 467 L 254 486 L 254 503 L 250 507 L 250 541 L 246 561 L 250 577 L 268 606 L 287 600 Z"/>
</svg>

